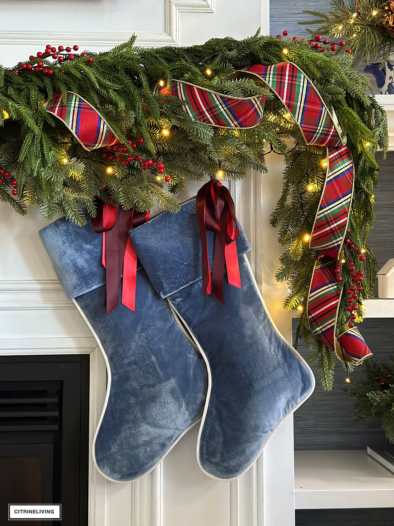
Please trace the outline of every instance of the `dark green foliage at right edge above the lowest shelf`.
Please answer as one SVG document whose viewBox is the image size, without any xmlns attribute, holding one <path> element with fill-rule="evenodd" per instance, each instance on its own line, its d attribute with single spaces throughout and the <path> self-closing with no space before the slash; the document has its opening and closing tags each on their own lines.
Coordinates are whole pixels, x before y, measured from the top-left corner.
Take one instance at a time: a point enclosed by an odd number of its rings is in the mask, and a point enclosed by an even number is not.
<svg viewBox="0 0 394 526">
<path fill-rule="evenodd" d="M 386 365 L 367 361 L 365 376 L 346 389 L 348 395 L 357 399 L 354 420 L 381 420 L 386 437 L 394 444 L 394 359 Z"/>
</svg>

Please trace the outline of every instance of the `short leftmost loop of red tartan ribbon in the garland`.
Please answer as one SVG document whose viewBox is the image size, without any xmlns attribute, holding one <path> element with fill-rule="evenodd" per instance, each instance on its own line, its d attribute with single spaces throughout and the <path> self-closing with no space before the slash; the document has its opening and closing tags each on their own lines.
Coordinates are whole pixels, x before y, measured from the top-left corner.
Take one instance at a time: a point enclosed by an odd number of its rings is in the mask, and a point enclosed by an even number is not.
<svg viewBox="0 0 394 526">
<path fill-rule="evenodd" d="M 115 132 L 105 119 L 76 93 L 67 92 L 66 104 L 63 104 L 61 93 L 56 93 L 52 100 L 46 101 L 45 109 L 63 121 L 72 135 L 88 151 L 119 143 Z"/>
</svg>

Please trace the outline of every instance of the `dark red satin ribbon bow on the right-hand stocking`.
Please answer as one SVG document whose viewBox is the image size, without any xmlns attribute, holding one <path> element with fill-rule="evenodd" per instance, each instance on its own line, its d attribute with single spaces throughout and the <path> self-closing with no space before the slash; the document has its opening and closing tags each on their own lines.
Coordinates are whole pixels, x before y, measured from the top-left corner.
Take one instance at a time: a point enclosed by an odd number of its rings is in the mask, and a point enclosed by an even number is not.
<svg viewBox="0 0 394 526">
<path fill-rule="evenodd" d="M 200 188 L 197 194 L 197 218 L 200 228 L 202 288 L 204 297 L 212 292 L 223 305 L 224 262 L 229 284 L 241 288 L 240 268 L 235 240 L 238 227 L 235 222 L 235 206 L 229 190 L 213 179 Z M 212 280 L 208 258 L 207 230 L 215 232 Z"/>
</svg>

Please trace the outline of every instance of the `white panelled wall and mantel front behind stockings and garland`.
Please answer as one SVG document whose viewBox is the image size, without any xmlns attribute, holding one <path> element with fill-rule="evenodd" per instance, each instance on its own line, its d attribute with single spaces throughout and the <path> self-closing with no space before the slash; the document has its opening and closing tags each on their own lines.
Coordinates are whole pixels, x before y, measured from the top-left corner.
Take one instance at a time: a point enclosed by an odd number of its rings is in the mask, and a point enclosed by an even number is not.
<svg viewBox="0 0 394 526">
<path fill-rule="evenodd" d="M 99 51 L 137 33 L 145 46 L 192 45 L 211 37 L 244 38 L 268 32 L 268 0 L 2 0 L 0 63 L 15 65 L 46 44 Z M 268 175 L 230 185 L 254 247 L 251 254 L 267 307 L 284 335 L 291 319 L 282 310 L 286 288 L 275 283 L 281 248 L 269 226 L 282 186 L 277 156 Z M 190 195 L 194 190 L 190 191 Z M 38 238 L 45 222 L 0 205 L 0 353 L 90 352 L 91 434 L 105 392 L 105 367 L 85 322 L 59 287 Z M 196 429 L 161 466 L 137 483 L 117 484 L 90 469 L 90 526 L 292 526 L 294 482 L 292 419 L 239 480 L 218 482 L 199 470 Z"/>
</svg>

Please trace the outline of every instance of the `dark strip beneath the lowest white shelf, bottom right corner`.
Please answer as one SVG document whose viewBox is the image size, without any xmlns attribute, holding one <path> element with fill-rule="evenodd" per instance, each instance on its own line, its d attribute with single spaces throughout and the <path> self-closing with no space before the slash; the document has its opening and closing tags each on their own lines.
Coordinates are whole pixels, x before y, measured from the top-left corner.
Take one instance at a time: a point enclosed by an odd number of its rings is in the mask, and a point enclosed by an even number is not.
<svg viewBox="0 0 394 526">
<path fill-rule="evenodd" d="M 394 508 L 296 510 L 296 526 L 394 526 Z"/>
</svg>

